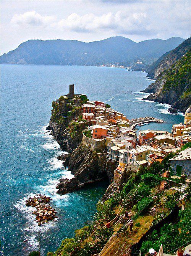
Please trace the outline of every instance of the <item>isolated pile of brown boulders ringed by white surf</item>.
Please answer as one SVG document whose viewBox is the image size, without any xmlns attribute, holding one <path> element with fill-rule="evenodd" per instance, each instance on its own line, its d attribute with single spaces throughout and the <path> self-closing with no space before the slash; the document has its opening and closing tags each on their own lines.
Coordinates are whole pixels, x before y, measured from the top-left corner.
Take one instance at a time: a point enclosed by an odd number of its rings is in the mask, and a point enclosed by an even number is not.
<svg viewBox="0 0 191 256">
<path fill-rule="evenodd" d="M 36 194 L 35 197 L 29 197 L 29 199 L 25 201 L 26 206 L 36 208 L 32 214 L 36 215 L 36 222 L 38 223 L 38 226 L 58 218 L 56 215 L 57 211 L 50 206 L 50 200 L 52 200 L 50 197 Z"/>
</svg>

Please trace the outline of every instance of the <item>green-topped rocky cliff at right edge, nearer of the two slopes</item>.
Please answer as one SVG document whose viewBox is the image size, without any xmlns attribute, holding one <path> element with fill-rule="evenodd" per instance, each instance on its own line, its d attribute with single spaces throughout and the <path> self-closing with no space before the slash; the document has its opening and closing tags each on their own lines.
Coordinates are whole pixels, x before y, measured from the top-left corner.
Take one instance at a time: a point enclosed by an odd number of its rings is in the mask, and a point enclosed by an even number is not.
<svg viewBox="0 0 191 256">
<path fill-rule="evenodd" d="M 176 61 L 168 70 L 163 71 L 144 92 L 153 93 L 143 100 L 171 104 L 170 112 L 185 112 L 191 102 L 190 52 Z"/>
</svg>

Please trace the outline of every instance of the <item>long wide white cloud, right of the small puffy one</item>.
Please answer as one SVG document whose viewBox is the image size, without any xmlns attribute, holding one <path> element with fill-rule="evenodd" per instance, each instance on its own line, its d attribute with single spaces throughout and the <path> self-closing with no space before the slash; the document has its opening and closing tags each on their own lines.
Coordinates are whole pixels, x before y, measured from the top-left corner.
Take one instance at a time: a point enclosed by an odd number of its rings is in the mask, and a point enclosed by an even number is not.
<svg viewBox="0 0 191 256">
<path fill-rule="evenodd" d="M 127 14 L 124 11 L 118 11 L 116 13 L 108 12 L 100 16 L 96 16 L 93 13 L 81 16 L 77 13 L 72 13 L 67 18 L 55 23 L 54 26 L 71 31 L 96 32 L 109 30 L 128 33 L 132 30 L 139 31 L 140 28 L 146 31 L 148 20 L 146 13 Z"/>
</svg>

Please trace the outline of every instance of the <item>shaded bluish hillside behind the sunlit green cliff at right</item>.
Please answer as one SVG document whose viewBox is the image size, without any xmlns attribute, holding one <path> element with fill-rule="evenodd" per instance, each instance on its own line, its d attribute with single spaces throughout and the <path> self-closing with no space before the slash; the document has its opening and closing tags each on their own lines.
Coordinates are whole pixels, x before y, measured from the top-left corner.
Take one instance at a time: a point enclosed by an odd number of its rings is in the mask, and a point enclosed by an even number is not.
<svg viewBox="0 0 191 256">
<path fill-rule="evenodd" d="M 190 50 L 191 38 L 188 38 L 174 50 L 163 54 L 157 61 L 151 66 L 145 69 L 148 73 L 147 76 L 156 80 L 163 71 L 169 69 L 176 61 L 181 59 L 187 51 Z M 152 91 L 154 92 L 154 91 Z"/>
</svg>

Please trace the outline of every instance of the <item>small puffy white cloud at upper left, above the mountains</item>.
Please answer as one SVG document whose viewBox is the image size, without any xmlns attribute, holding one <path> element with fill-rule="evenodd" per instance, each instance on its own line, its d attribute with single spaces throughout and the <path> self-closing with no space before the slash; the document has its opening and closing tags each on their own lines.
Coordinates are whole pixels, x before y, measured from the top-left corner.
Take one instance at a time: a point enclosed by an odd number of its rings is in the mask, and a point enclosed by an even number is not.
<svg viewBox="0 0 191 256">
<path fill-rule="evenodd" d="M 11 19 L 11 24 L 19 26 L 48 26 L 55 20 L 54 16 L 41 16 L 35 11 L 15 14 Z"/>
</svg>

